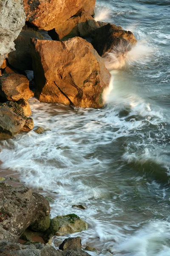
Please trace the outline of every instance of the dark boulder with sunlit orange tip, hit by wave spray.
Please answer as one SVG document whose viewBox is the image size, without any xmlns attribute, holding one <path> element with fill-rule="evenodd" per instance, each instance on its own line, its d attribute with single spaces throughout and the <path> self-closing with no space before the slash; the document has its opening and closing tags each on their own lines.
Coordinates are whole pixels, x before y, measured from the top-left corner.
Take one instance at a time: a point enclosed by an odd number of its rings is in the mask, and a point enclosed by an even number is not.
<svg viewBox="0 0 170 256">
<path fill-rule="evenodd" d="M 121 43 L 120 43 L 121 42 Z M 136 38 L 130 31 L 122 30 L 122 27 L 108 23 L 96 29 L 94 39 L 91 44 L 100 56 L 104 57 L 106 53 L 111 52 L 113 47 L 122 44 L 131 46 L 136 44 Z"/>
</svg>

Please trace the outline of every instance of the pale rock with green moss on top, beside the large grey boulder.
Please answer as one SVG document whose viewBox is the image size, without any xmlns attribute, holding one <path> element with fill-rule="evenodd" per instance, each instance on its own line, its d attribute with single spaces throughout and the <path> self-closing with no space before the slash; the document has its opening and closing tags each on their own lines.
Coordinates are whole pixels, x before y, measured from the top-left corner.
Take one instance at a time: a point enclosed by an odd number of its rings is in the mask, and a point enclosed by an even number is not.
<svg viewBox="0 0 170 256">
<path fill-rule="evenodd" d="M 81 232 L 86 229 L 88 229 L 88 224 L 75 214 L 57 216 L 51 220 L 49 227 L 50 233 L 56 234 L 57 236 Z"/>
</svg>

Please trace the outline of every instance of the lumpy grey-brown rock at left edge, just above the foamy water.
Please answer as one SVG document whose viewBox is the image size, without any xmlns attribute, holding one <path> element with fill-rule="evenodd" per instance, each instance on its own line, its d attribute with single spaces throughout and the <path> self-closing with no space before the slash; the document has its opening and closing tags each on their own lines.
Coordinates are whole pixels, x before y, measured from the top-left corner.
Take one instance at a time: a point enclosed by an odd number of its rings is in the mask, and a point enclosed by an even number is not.
<svg viewBox="0 0 170 256">
<path fill-rule="evenodd" d="M 20 131 L 34 128 L 32 118 L 27 118 L 16 102 L 0 103 L 0 140 L 8 140 Z"/>
</svg>

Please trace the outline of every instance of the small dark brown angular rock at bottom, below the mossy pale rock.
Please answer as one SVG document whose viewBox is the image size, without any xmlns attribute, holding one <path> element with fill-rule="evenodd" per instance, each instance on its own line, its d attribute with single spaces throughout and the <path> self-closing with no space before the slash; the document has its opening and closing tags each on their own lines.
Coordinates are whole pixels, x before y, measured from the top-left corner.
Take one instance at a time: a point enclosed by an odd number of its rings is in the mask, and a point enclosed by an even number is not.
<svg viewBox="0 0 170 256">
<path fill-rule="evenodd" d="M 77 250 L 82 248 L 82 241 L 79 236 L 65 239 L 59 246 L 59 250 Z"/>
</svg>

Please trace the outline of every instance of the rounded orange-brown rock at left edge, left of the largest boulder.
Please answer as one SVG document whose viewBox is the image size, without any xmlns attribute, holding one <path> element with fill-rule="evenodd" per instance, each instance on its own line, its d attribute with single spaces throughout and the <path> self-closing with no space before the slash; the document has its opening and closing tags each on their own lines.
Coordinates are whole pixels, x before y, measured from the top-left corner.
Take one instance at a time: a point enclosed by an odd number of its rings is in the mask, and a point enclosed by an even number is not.
<svg viewBox="0 0 170 256">
<path fill-rule="evenodd" d="M 6 100 L 29 99 L 34 93 L 29 89 L 26 76 L 9 73 L 0 78 L 0 96 Z"/>
</svg>

